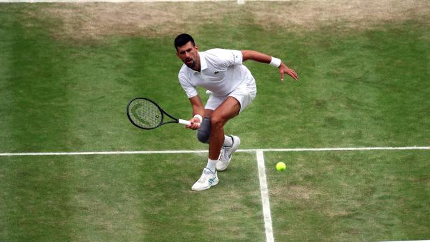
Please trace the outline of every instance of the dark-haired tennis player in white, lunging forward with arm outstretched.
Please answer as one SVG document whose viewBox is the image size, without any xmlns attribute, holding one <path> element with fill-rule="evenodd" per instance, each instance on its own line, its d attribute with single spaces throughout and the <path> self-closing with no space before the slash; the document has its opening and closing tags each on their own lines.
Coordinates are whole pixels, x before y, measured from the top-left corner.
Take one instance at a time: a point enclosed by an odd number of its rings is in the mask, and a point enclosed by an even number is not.
<svg viewBox="0 0 430 242">
<path fill-rule="evenodd" d="M 198 129 L 198 140 L 209 143 L 207 165 L 191 189 L 206 190 L 218 183 L 216 171 L 228 167 L 232 154 L 240 145 L 239 137 L 224 134 L 225 123 L 242 112 L 257 94 L 254 77 L 242 63 L 249 59 L 269 63 L 279 68 L 282 81 L 284 74 L 297 80 L 297 73 L 280 59 L 253 50 L 212 49 L 199 52 L 198 45 L 186 33 L 175 38 L 175 48 L 184 63 L 179 71 L 179 83 L 193 107 L 191 125 L 186 128 Z M 205 106 L 196 86 L 202 86 L 210 93 Z"/>
</svg>

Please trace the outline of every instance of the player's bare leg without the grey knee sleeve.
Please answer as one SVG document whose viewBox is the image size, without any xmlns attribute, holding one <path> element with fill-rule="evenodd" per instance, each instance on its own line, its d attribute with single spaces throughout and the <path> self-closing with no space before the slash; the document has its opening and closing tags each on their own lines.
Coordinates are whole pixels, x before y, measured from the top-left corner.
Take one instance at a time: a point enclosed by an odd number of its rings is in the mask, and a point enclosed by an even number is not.
<svg viewBox="0 0 430 242">
<path fill-rule="evenodd" d="M 239 114 L 240 103 L 236 98 L 228 97 L 211 116 L 211 137 L 209 139 L 209 159 L 218 160 L 221 147 L 224 144 L 224 125 Z"/>
</svg>

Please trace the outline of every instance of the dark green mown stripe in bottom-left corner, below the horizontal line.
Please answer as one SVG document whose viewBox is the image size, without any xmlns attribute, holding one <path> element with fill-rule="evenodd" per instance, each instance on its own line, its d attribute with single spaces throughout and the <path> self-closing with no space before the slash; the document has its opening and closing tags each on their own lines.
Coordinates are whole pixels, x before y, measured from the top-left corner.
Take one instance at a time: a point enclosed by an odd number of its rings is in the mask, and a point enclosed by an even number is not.
<svg viewBox="0 0 430 242">
<path fill-rule="evenodd" d="M 1 158 L 1 241 L 71 240 L 75 207 L 70 159 Z"/>
</svg>

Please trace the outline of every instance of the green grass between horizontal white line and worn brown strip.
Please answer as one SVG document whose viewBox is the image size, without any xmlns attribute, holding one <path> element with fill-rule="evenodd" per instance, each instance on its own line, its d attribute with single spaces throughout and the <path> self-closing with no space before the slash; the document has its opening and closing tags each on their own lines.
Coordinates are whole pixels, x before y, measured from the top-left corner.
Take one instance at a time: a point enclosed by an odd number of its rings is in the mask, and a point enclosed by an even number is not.
<svg viewBox="0 0 430 242">
<path fill-rule="evenodd" d="M 70 45 L 43 31 L 44 23 L 28 29 L 14 14 L 5 13 L 2 21 L 1 114 L 6 121 L 1 128 L 8 130 L 0 136 L 3 151 L 195 147 L 195 142 L 147 142 L 149 136 L 176 140 L 193 134 L 169 127 L 140 135 L 124 116 L 126 102 L 135 96 L 153 98 L 175 116 L 191 115 L 177 83 L 180 62 L 170 38 Z M 267 34 L 252 26 L 241 31 Z M 246 63 L 258 82 L 258 96 L 227 131 L 240 133 L 253 148 L 429 144 L 428 28 L 408 22 L 359 33 L 338 31 L 274 33 L 270 40 L 240 45 L 233 37 L 212 43 L 211 36 L 198 36 L 203 50 L 210 38 L 211 46 L 258 46 L 279 53 L 299 73 L 299 82 L 281 84 L 274 69 Z M 202 98 L 207 98 L 204 93 Z M 267 120 L 272 125 L 266 126 Z M 286 135 L 272 135 L 279 128 Z"/>
</svg>

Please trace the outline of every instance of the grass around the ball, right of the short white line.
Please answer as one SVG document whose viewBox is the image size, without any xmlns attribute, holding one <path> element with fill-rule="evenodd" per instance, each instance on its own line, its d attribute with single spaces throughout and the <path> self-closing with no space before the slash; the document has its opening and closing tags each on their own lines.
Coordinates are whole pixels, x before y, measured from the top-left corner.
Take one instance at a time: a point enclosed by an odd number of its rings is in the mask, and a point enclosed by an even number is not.
<svg viewBox="0 0 430 242">
<path fill-rule="evenodd" d="M 274 169 L 286 162 L 286 172 Z M 265 153 L 276 241 L 430 238 L 428 151 Z"/>
</svg>

